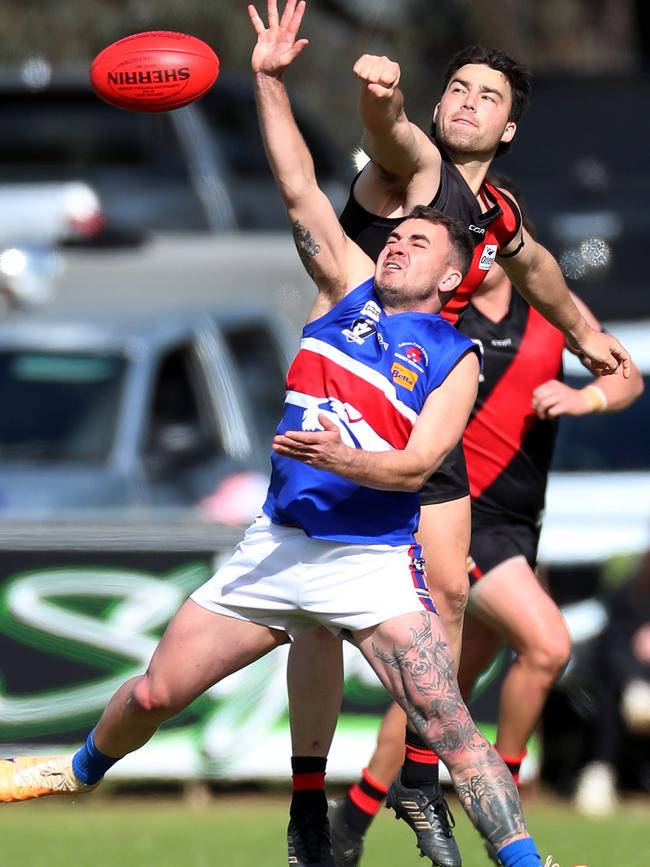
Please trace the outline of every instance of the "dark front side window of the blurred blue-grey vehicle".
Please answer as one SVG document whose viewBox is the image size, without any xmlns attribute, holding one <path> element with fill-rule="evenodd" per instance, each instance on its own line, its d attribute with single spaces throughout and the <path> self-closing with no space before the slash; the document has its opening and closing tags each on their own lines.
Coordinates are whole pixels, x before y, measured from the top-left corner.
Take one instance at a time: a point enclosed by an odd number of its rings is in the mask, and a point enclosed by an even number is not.
<svg viewBox="0 0 650 867">
<path fill-rule="evenodd" d="M 192 462 L 216 456 L 219 450 L 191 349 L 173 350 L 160 362 L 155 378 L 146 456 Z"/>
</svg>

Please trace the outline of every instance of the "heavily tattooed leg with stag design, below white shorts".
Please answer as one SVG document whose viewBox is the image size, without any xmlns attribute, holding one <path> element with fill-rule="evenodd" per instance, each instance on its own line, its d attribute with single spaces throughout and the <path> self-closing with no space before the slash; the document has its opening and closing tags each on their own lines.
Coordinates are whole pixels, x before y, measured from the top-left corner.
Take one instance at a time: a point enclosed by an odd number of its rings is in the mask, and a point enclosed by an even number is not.
<svg viewBox="0 0 650 867">
<path fill-rule="evenodd" d="M 420 737 L 444 761 L 481 834 L 497 849 L 528 836 L 512 775 L 461 698 L 439 619 L 426 612 L 402 615 L 357 633 L 355 640 Z"/>
</svg>

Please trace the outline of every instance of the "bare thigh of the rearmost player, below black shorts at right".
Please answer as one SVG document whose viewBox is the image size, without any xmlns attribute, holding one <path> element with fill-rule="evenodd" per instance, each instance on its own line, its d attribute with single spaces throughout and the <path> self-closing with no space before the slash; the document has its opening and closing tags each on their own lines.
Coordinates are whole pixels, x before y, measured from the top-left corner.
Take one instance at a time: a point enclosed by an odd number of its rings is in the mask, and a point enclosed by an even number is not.
<svg viewBox="0 0 650 867">
<path fill-rule="evenodd" d="M 500 563 L 474 585 L 470 611 L 519 653 L 567 631 L 560 609 L 523 556 Z"/>
</svg>

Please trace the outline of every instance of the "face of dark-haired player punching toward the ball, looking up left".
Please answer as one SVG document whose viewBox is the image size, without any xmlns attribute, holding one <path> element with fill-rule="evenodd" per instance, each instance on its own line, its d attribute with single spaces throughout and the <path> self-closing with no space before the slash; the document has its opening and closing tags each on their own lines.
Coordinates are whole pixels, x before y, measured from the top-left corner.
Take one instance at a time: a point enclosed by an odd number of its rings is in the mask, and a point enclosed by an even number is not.
<svg viewBox="0 0 650 867">
<path fill-rule="evenodd" d="M 515 134 L 511 105 L 510 82 L 502 72 L 482 63 L 462 66 L 436 106 L 436 138 L 452 154 L 491 158 Z"/>
</svg>

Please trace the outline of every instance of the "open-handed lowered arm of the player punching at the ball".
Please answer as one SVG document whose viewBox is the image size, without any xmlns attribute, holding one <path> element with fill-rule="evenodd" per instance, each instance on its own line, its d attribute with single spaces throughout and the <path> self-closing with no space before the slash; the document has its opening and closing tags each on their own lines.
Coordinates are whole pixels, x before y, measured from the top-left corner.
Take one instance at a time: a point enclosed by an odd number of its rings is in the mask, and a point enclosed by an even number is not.
<svg viewBox="0 0 650 867">
<path fill-rule="evenodd" d="M 508 256 L 515 251 L 515 255 Z M 564 333 L 569 347 L 585 359 L 590 370 L 601 375 L 611 374 L 620 366 L 627 379 L 631 364 L 629 352 L 612 334 L 604 334 L 587 322 L 549 251 L 522 227 L 521 237 L 518 235 L 502 252 L 505 256 L 499 258 L 499 264 L 511 282 L 529 304 Z"/>
</svg>

